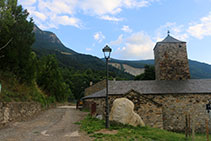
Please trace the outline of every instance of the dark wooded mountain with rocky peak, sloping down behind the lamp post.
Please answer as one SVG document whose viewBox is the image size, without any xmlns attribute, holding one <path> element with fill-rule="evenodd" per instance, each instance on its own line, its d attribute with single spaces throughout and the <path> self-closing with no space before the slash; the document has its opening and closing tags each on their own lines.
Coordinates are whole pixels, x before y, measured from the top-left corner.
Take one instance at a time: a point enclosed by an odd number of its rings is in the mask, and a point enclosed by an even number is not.
<svg viewBox="0 0 211 141">
<path fill-rule="evenodd" d="M 67 48 L 59 38 L 52 32 L 42 31 L 38 26 L 34 26 L 35 43 L 32 45 L 32 50 L 36 52 L 38 57 L 49 54 L 54 54 L 59 65 L 62 67 L 73 68 L 76 70 L 92 69 L 95 71 L 105 71 L 105 62 L 98 57 L 86 54 L 80 54 Z M 133 76 L 110 67 L 109 70 L 114 72 L 119 77 L 132 79 Z"/>
</svg>

